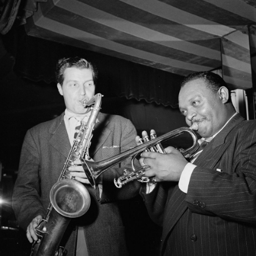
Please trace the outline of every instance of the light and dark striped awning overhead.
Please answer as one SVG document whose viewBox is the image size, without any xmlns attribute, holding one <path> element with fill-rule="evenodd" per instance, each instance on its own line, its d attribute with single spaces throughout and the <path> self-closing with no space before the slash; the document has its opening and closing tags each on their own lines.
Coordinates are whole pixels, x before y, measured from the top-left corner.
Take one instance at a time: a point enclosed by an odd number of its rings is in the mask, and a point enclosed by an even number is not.
<svg viewBox="0 0 256 256">
<path fill-rule="evenodd" d="M 182 76 L 221 69 L 232 88 L 252 87 L 253 0 L 44 0 L 26 23 L 34 37 Z"/>
</svg>

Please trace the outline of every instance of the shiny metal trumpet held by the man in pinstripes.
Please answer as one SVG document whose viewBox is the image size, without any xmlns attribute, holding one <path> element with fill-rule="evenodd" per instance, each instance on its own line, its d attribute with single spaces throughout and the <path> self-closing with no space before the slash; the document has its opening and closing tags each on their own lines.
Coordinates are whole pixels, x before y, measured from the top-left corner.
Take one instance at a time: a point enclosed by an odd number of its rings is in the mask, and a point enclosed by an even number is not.
<svg viewBox="0 0 256 256">
<path fill-rule="evenodd" d="M 137 157 L 137 155 L 139 155 L 141 152 L 146 151 L 150 148 L 154 148 L 154 150 L 160 150 L 160 148 L 162 147 L 160 143 L 162 141 L 169 140 L 171 138 L 182 135 L 184 132 L 188 132 L 193 139 L 193 145 L 185 150 L 182 150 L 182 154 L 186 158 L 191 157 L 194 151 L 196 151 L 196 149 L 199 147 L 196 133 L 194 133 L 192 129 L 195 129 L 195 128 L 181 127 L 179 129 L 172 130 L 171 132 L 165 133 L 160 137 L 154 137 L 152 140 L 148 140 L 145 143 L 135 148 L 129 149 L 127 151 L 122 152 L 119 155 L 115 155 L 113 157 L 107 158 L 105 160 L 101 160 L 99 162 L 90 162 L 88 160 L 85 160 L 84 158 L 80 158 L 85 174 L 87 175 L 88 181 L 90 182 L 91 186 L 96 188 L 96 180 L 98 179 L 99 176 L 101 176 L 103 172 L 107 171 L 117 163 L 123 162 L 124 160 L 126 160 L 126 158 L 131 157 L 132 169 L 131 171 L 124 170 L 125 177 L 121 176 L 117 181 L 114 180 L 116 187 L 121 188 L 124 184 L 135 179 L 141 179 L 139 181 L 147 182 L 146 181 L 147 177 L 144 177 L 144 172 L 146 171 L 146 168 L 149 168 L 149 166 L 148 167 L 142 166 L 141 168 L 136 169 L 134 160 Z"/>
</svg>

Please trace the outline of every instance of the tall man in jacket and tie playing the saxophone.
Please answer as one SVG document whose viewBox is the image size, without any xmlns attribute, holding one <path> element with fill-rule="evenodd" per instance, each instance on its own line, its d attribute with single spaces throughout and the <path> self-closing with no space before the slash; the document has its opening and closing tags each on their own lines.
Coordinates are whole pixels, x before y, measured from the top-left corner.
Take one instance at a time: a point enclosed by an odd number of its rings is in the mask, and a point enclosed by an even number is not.
<svg viewBox="0 0 256 256">
<path fill-rule="evenodd" d="M 56 79 L 66 110 L 57 118 L 27 131 L 13 191 L 16 219 L 26 230 L 30 243 L 38 241 L 35 228 L 46 215 L 51 188 L 59 179 L 73 145 L 77 124 L 90 118 L 90 104 L 83 102 L 90 102 L 95 94 L 97 71 L 80 57 L 64 58 L 57 64 Z M 87 157 L 99 161 L 120 154 L 136 146 L 135 136 L 135 127 L 128 119 L 99 113 Z M 65 230 L 60 246 L 65 247 L 67 255 L 128 255 L 116 201 L 138 194 L 140 183 L 135 181 L 124 190 L 118 190 L 113 179 L 129 167 L 129 160 L 114 166 L 100 177 L 94 190 L 80 160 L 69 166 L 72 179 L 83 183 L 90 193 L 91 204 L 88 211 L 72 219 Z"/>
</svg>

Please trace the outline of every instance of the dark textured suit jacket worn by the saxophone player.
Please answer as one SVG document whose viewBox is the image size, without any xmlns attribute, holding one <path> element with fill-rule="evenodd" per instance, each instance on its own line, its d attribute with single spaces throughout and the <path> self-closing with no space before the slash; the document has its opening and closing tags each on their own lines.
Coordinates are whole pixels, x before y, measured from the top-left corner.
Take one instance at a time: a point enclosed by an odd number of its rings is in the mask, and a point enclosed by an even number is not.
<svg viewBox="0 0 256 256">
<path fill-rule="evenodd" d="M 24 230 L 35 216 L 46 215 L 49 192 L 59 179 L 71 149 L 63 116 L 38 124 L 27 131 L 24 139 L 13 192 L 13 209 Z M 94 161 L 136 146 L 136 130 L 128 119 L 102 113 L 98 119 L 89 150 Z M 98 189 L 85 185 L 91 196 L 91 205 L 84 216 L 71 220 L 65 232 L 61 245 L 68 250 L 68 255 L 75 255 L 77 224 L 84 226 L 89 255 L 127 255 L 123 222 L 116 201 L 138 194 L 140 183 L 132 182 L 122 190 L 113 183 L 113 179 L 123 175 L 127 167 L 130 167 L 130 159 L 102 174 L 101 198 Z"/>
</svg>

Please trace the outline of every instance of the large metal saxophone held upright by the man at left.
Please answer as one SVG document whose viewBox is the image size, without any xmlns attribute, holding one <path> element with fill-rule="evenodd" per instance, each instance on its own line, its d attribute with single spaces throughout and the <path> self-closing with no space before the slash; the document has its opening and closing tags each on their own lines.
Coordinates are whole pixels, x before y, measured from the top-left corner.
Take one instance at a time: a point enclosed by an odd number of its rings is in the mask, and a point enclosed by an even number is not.
<svg viewBox="0 0 256 256">
<path fill-rule="evenodd" d="M 91 115 L 87 123 L 82 121 L 79 133 L 74 140 L 59 180 L 51 189 L 51 203 L 48 207 L 48 212 L 35 229 L 39 242 L 34 242 L 30 256 L 65 255 L 65 249 L 60 247 L 59 244 L 66 227 L 68 227 L 71 218 L 84 215 L 90 207 L 91 199 L 88 190 L 82 183 L 74 180 L 68 168 L 76 159 L 90 158 L 88 149 L 94 124 L 101 109 L 101 98 L 102 94 L 98 93 L 89 102 L 81 101 L 84 107 L 94 102 L 91 107 Z"/>
</svg>

